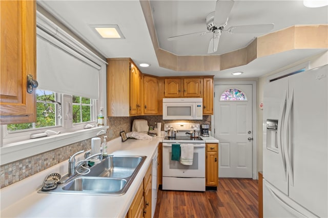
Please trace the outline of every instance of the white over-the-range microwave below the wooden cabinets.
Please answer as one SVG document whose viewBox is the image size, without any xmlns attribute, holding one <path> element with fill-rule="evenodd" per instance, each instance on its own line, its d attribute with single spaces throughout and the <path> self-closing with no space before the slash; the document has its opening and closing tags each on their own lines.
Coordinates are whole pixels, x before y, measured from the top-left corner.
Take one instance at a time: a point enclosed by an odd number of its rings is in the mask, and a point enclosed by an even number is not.
<svg viewBox="0 0 328 218">
<path fill-rule="evenodd" d="M 163 98 L 163 120 L 202 119 L 202 98 Z"/>
</svg>

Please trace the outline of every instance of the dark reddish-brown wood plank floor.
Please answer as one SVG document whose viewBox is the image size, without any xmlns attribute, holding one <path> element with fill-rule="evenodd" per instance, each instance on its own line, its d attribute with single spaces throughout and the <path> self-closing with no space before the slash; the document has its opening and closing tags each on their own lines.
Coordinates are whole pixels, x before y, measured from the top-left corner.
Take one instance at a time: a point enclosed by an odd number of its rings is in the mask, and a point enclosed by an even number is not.
<svg viewBox="0 0 328 218">
<path fill-rule="evenodd" d="M 258 217 L 258 181 L 220 178 L 217 191 L 158 190 L 154 217 Z"/>
</svg>

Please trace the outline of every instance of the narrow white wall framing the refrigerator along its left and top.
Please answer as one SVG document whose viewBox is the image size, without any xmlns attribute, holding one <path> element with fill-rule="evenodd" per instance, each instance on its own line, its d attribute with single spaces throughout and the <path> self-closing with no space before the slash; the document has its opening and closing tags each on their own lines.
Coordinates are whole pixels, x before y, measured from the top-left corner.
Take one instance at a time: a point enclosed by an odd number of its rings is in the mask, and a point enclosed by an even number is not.
<svg viewBox="0 0 328 218">
<path fill-rule="evenodd" d="M 283 69 L 279 69 L 277 71 L 271 72 L 267 75 L 264 75 L 263 77 L 260 77 L 258 79 L 257 83 L 257 102 L 258 105 L 263 102 L 263 89 L 265 86 L 265 83 L 267 83 L 267 78 L 269 76 L 272 76 L 274 74 L 277 74 L 281 71 L 287 70 L 289 68 L 292 68 L 294 66 L 297 66 L 298 64 L 304 63 L 309 61 L 309 70 L 313 68 L 317 68 L 320 66 L 323 66 L 325 64 L 328 64 L 328 51 L 326 51 L 323 54 L 316 55 L 314 57 L 299 61 L 297 63 L 294 63 L 293 65 L 286 66 Z M 257 170 L 262 171 L 263 170 L 263 111 L 257 107 Z"/>
</svg>

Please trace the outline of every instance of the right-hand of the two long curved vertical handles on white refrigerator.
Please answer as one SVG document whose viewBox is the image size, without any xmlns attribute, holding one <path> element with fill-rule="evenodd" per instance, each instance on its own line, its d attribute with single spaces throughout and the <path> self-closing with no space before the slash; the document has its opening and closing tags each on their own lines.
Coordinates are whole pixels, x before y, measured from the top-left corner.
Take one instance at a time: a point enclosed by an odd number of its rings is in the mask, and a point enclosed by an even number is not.
<svg viewBox="0 0 328 218">
<path fill-rule="evenodd" d="M 289 144 L 288 144 L 287 132 L 288 132 L 288 124 L 289 124 L 289 120 L 290 120 L 291 112 L 292 112 L 293 100 L 294 100 L 294 89 L 292 90 L 292 96 L 291 96 L 290 101 L 287 102 L 286 116 L 285 116 L 285 120 L 284 120 L 284 123 L 283 123 L 283 128 L 284 128 L 284 132 L 285 132 L 285 135 L 283 136 L 283 141 L 284 141 L 283 149 L 284 149 L 284 153 L 285 153 L 287 171 L 288 171 L 288 175 L 289 175 L 289 178 L 290 178 L 290 185 L 291 186 L 294 186 L 294 175 L 293 175 L 291 157 L 290 157 L 290 154 L 289 154 Z"/>
</svg>

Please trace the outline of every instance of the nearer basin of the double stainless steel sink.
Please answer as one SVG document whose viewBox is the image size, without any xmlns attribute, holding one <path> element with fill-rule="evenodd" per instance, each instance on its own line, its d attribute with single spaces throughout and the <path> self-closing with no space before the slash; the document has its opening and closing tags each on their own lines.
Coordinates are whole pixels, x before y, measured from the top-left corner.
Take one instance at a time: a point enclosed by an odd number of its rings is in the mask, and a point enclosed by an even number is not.
<svg viewBox="0 0 328 218">
<path fill-rule="evenodd" d="M 68 182 L 63 190 L 118 193 L 125 187 L 126 183 L 125 179 L 80 177 Z"/>
</svg>

